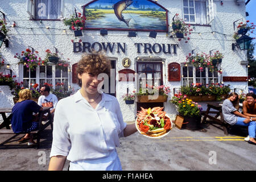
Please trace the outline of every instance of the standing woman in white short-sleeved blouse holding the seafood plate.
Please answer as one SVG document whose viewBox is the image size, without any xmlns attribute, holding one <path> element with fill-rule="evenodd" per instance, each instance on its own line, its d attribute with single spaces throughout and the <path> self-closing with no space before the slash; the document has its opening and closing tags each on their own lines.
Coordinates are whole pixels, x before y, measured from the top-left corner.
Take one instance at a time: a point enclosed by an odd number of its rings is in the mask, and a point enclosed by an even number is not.
<svg viewBox="0 0 256 182">
<path fill-rule="evenodd" d="M 78 90 L 57 103 L 49 170 L 122 170 L 115 147 L 119 138 L 137 131 L 123 122 L 117 98 L 100 92 L 100 73 L 110 73 L 110 60 L 101 53 L 82 56 L 77 64 Z"/>
</svg>

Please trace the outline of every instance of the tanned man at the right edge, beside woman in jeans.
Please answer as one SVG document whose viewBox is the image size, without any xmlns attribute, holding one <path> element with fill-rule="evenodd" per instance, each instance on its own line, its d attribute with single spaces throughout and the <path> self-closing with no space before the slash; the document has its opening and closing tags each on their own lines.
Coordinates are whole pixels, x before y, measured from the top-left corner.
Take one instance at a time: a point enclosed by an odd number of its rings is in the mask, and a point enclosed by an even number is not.
<svg viewBox="0 0 256 182">
<path fill-rule="evenodd" d="M 243 114 L 251 118 L 256 118 L 256 95 L 254 93 L 246 94 L 246 101 L 243 101 Z M 249 141 L 249 136 L 245 138 L 246 141 Z"/>
</svg>

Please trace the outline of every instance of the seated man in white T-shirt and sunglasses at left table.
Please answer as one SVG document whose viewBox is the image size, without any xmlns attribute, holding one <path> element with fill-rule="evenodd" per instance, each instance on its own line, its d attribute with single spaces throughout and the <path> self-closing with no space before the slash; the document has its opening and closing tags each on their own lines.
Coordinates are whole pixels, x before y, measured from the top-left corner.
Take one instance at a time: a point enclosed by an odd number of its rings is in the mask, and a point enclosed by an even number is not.
<svg viewBox="0 0 256 182">
<path fill-rule="evenodd" d="M 42 107 L 51 107 L 50 111 L 53 116 L 58 99 L 55 94 L 49 93 L 50 90 L 48 85 L 43 85 L 42 88 L 40 88 L 41 96 L 38 98 L 38 105 Z"/>
</svg>

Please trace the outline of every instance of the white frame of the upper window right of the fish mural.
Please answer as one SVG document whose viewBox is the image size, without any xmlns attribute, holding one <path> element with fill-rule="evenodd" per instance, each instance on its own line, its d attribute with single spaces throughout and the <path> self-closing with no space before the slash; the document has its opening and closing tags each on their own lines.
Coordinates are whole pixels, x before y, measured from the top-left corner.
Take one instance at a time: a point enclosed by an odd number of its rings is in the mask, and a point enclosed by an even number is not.
<svg viewBox="0 0 256 182">
<path fill-rule="evenodd" d="M 185 23 L 189 23 L 189 24 L 200 24 L 200 23 L 196 23 L 196 9 L 195 9 L 195 1 L 196 0 L 187 0 L 188 1 L 188 6 L 184 6 L 184 0 L 182 1 L 182 12 L 183 12 L 183 19 Z M 194 14 L 190 14 L 190 10 L 189 10 L 189 1 L 193 1 L 193 9 L 194 9 Z M 202 1 L 202 0 L 201 0 Z M 214 19 L 214 5 L 213 5 L 213 0 L 203 0 L 206 3 L 206 23 L 205 24 L 200 24 L 200 25 L 209 25 L 213 19 Z M 188 7 L 188 14 L 184 13 L 184 7 Z M 185 15 L 189 15 L 189 21 L 185 20 Z M 190 21 L 190 15 L 194 15 L 195 16 L 195 22 L 191 22 Z"/>
</svg>

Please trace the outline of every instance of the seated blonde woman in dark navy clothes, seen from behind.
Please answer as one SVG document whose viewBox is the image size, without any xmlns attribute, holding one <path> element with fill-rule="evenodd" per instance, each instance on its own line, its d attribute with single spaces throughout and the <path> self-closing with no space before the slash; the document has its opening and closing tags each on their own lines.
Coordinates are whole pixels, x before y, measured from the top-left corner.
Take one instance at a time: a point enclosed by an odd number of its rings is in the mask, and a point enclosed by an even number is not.
<svg viewBox="0 0 256 182">
<path fill-rule="evenodd" d="M 33 112 L 38 113 L 43 107 L 36 104 L 31 100 L 31 92 L 28 89 L 19 91 L 19 100 L 14 105 L 11 118 L 11 127 L 14 133 L 26 133 L 26 135 L 18 142 L 23 143 L 29 140 L 28 146 L 35 144 L 33 136 L 30 131 L 34 131 L 38 128 L 38 122 L 33 122 Z"/>
</svg>

